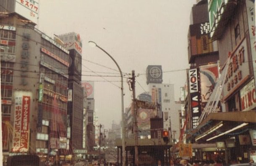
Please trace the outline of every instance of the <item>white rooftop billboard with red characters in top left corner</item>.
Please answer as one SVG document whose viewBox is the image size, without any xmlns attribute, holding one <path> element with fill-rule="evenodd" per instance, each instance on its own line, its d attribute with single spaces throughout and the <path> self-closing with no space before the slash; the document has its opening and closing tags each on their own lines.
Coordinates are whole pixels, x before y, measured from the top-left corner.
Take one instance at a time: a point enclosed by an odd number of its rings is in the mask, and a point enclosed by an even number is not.
<svg viewBox="0 0 256 166">
<path fill-rule="evenodd" d="M 33 23 L 37 23 L 39 0 L 16 0 L 15 12 Z"/>
</svg>

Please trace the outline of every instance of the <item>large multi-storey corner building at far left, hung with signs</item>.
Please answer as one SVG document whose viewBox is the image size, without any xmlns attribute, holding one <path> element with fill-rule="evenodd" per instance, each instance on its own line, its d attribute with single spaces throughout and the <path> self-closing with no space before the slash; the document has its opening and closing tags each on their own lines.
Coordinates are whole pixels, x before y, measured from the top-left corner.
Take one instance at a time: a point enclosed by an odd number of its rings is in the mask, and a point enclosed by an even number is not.
<svg viewBox="0 0 256 166">
<path fill-rule="evenodd" d="M 3 152 L 71 153 L 66 128 L 69 52 L 17 13 L 0 17 Z"/>
</svg>

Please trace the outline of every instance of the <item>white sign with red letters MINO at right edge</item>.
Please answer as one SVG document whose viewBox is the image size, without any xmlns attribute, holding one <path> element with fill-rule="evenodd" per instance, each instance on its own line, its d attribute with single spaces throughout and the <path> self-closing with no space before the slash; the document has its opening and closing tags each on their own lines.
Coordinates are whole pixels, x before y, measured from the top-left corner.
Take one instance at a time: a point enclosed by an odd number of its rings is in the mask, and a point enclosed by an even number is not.
<svg viewBox="0 0 256 166">
<path fill-rule="evenodd" d="M 254 79 L 240 90 L 241 111 L 249 111 L 256 107 L 256 91 Z"/>
</svg>

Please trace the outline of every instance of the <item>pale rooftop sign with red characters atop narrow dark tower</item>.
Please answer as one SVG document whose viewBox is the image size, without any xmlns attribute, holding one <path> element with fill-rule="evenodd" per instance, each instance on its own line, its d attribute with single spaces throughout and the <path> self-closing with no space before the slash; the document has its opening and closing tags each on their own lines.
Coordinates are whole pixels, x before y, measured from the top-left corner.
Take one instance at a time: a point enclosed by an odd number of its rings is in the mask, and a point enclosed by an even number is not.
<svg viewBox="0 0 256 166">
<path fill-rule="evenodd" d="M 64 42 L 65 49 L 75 49 L 80 55 L 82 54 L 82 41 L 79 34 L 73 32 L 58 37 Z"/>
</svg>

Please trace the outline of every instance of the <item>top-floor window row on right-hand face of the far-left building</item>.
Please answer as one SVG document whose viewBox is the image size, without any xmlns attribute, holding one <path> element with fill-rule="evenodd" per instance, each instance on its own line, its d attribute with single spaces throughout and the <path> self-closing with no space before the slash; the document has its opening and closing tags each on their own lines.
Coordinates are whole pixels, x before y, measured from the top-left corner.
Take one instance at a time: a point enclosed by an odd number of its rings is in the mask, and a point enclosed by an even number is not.
<svg viewBox="0 0 256 166">
<path fill-rule="evenodd" d="M 61 59 L 65 60 L 67 62 L 69 61 L 69 55 L 66 54 L 65 52 L 63 52 L 58 47 L 56 47 L 55 45 L 53 45 L 52 43 L 50 43 L 49 41 L 41 38 L 41 44 L 43 47 L 45 47 L 47 50 L 49 50 L 53 54 L 59 56 Z"/>
</svg>

